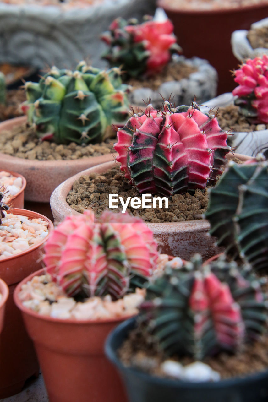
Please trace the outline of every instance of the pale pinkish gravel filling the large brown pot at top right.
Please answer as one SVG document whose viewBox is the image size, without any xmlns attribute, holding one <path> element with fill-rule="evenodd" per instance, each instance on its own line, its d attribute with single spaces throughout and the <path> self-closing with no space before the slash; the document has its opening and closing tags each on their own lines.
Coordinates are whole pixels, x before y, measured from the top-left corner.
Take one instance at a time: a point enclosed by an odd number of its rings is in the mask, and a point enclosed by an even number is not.
<svg viewBox="0 0 268 402">
<path fill-rule="evenodd" d="M 241 8 L 254 4 L 267 3 L 267 0 L 164 0 L 161 4 L 175 10 L 214 10 L 217 8 Z"/>
</svg>

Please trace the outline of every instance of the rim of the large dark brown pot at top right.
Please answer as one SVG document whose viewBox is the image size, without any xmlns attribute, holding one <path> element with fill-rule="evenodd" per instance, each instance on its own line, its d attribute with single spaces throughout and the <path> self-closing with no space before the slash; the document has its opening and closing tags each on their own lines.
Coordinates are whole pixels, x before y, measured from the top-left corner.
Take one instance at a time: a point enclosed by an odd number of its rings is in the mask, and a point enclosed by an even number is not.
<svg viewBox="0 0 268 402">
<path fill-rule="evenodd" d="M 178 7 L 172 7 L 170 4 L 167 4 L 165 0 L 157 0 L 157 6 L 162 7 L 164 10 L 169 12 L 173 12 L 175 14 L 189 14 L 193 16 L 199 16 L 208 14 L 209 16 L 213 15 L 221 15 L 221 14 L 239 14 L 241 11 L 252 11 L 259 8 L 268 8 L 267 3 L 259 3 L 259 4 L 251 4 L 249 6 L 241 6 L 237 8 L 218 8 L 218 9 L 210 9 L 210 10 L 191 10 L 191 9 L 180 9 Z"/>
</svg>

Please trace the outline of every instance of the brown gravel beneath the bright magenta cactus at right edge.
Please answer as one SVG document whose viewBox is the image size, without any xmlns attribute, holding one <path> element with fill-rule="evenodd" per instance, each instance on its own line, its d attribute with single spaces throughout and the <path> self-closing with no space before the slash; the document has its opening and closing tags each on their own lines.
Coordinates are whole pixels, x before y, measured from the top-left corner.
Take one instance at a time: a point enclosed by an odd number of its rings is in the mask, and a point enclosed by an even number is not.
<svg viewBox="0 0 268 402">
<path fill-rule="evenodd" d="M 217 120 L 221 129 L 227 131 L 258 131 L 268 128 L 268 124 L 249 123 L 245 116 L 239 113 L 239 107 L 235 105 L 220 107 Z"/>
</svg>

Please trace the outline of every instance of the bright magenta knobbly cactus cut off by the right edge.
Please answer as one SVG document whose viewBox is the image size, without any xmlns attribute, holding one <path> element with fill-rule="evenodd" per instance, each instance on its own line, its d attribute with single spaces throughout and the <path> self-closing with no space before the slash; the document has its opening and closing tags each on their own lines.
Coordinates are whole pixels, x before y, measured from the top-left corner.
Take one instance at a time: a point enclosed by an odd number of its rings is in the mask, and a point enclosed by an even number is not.
<svg viewBox="0 0 268 402">
<path fill-rule="evenodd" d="M 253 122 L 268 123 L 268 55 L 247 60 L 234 74 L 235 105 Z"/>
</svg>

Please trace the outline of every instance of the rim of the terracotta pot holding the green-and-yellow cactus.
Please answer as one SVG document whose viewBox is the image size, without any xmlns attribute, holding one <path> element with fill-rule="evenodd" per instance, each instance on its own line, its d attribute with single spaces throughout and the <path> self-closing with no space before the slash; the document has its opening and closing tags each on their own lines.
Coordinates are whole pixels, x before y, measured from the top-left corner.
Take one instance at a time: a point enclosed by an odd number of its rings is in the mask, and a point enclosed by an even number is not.
<svg viewBox="0 0 268 402">
<path fill-rule="evenodd" d="M 24 122 L 26 123 L 27 121 L 27 116 L 20 116 L 20 117 L 14 117 L 13 119 L 8 119 L 8 120 L 4 120 L 0 122 L 0 135 L 1 135 L 1 131 L 4 130 L 8 130 L 10 129 L 10 127 L 14 127 L 14 126 L 19 126 L 22 125 Z M 12 124 L 12 125 L 11 125 Z M 8 127 L 6 128 L 5 125 L 7 125 Z M 119 124 L 118 124 L 119 125 Z M 3 128 L 4 126 L 4 128 Z M 40 168 L 41 164 L 45 163 L 45 166 L 47 166 L 47 168 L 57 168 L 59 166 L 72 166 L 72 165 L 77 165 L 78 163 L 80 163 L 81 165 L 85 165 L 87 164 L 87 161 L 90 159 L 91 162 L 93 161 L 96 165 L 99 164 L 99 161 L 103 162 L 103 159 L 105 159 L 104 157 L 108 158 L 109 156 L 112 158 L 113 154 L 111 154 L 111 152 L 109 152 L 108 154 L 103 154 L 100 156 L 88 156 L 87 158 L 80 158 L 80 159 L 66 159 L 66 160 L 38 160 L 38 159 L 34 159 L 34 160 L 29 160 L 29 159 L 24 159 L 24 158 L 18 158 L 17 156 L 12 156 L 12 155 L 8 155 L 8 154 L 4 154 L 3 152 L 0 152 L 0 158 L 1 159 L 8 159 L 10 162 L 18 162 L 20 161 L 20 164 L 27 167 L 28 169 L 34 169 L 34 168 Z M 93 163 L 92 162 L 92 163 Z"/>
</svg>

